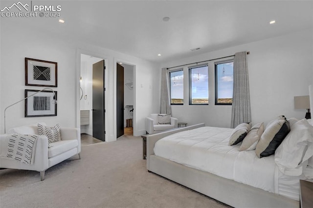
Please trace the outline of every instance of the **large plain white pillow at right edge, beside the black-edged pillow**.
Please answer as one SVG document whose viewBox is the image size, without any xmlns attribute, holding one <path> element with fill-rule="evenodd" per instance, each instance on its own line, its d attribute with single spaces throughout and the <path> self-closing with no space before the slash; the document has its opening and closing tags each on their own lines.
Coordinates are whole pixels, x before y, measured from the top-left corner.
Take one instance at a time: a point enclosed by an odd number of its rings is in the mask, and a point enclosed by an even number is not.
<svg viewBox="0 0 313 208">
<path fill-rule="evenodd" d="M 274 160 L 285 175 L 302 174 L 304 162 L 313 156 L 313 126 L 306 119 L 295 123 L 284 141 L 275 151 Z"/>
</svg>

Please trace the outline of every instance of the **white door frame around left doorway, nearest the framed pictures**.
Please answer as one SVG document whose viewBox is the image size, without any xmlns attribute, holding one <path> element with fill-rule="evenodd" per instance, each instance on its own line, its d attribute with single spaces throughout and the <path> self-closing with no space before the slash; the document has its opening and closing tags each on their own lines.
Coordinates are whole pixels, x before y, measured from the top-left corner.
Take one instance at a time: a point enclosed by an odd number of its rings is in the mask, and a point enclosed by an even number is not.
<svg viewBox="0 0 313 208">
<path fill-rule="evenodd" d="M 81 77 L 81 74 L 80 74 L 80 71 L 81 71 L 81 54 L 85 54 L 85 55 L 88 55 L 88 56 L 93 56 L 93 57 L 96 57 L 96 58 L 99 58 L 99 59 L 102 59 L 104 60 L 104 65 L 106 68 L 108 68 L 108 59 L 106 58 L 105 55 L 102 55 L 102 54 L 97 54 L 97 53 L 93 53 L 91 51 L 87 51 L 87 50 L 83 50 L 83 49 L 77 49 L 77 54 L 76 54 L 76 74 L 75 74 L 75 77 L 76 77 L 76 84 L 75 84 L 75 87 L 76 87 L 76 128 L 79 128 L 80 129 L 80 77 Z M 105 79 L 104 79 L 104 87 L 106 89 L 108 89 L 108 70 L 104 70 L 104 73 L 105 73 Z M 107 93 L 105 93 L 105 106 L 104 108 L 107 109 Z M 107 118 L 107 113 L 105 113 L 105 116 L 104 116 L 104 120 L 105 120 L 105 129 L 108 128 L 107 126 L 107 122 L 108 121 L 108 118 Z M 107 139 L 107 135 L 106 135 L 106 139 Z"/>
</svg>

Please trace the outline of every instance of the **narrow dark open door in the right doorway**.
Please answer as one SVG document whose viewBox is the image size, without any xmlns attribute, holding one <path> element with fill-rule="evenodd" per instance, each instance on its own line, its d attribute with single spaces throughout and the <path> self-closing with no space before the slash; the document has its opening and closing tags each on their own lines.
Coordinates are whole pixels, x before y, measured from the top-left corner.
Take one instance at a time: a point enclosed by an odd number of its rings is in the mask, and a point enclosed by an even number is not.
<svg viewBox="0 0 313 208">
<path fill-rule="evenodd" d="M 124 67 L 116 63 L 116 137 L 124 135 Z"/>
</svg>

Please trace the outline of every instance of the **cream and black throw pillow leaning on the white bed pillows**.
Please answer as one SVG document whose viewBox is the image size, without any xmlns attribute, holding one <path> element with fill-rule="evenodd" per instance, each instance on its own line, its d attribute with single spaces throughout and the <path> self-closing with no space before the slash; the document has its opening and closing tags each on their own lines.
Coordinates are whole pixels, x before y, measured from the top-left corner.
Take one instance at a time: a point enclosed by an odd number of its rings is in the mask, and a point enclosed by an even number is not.
<svg viewBox="0 0 313 208">
<path fill-rule="evenodd" d="M 256 145 L 256 155 L 262 158 L 274 154 L 289 132 L 290 125 L 285 117 L 275 119 L 268 124 Z"/>
</svg>

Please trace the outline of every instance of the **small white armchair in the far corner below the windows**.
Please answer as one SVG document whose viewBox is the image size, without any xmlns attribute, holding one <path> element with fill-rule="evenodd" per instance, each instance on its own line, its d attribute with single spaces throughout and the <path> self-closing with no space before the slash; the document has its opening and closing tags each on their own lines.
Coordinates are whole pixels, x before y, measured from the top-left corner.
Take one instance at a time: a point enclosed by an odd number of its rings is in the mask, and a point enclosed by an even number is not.
<svg viewBox="0 0 313 208">
<path fill-rule="evenodd" d="M 178 119 L 170 117 L 170 124 L 158 124 L 158 114 L 150 114 L 149 117 L 146 117 L 146 131 L 148 134 L 157 133 L 172 128 L 177 128 Z M 161 114 L 162 115 L 162 114 Z"/>
</svg>

